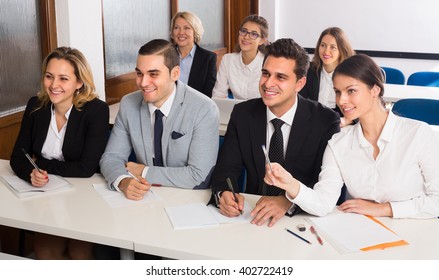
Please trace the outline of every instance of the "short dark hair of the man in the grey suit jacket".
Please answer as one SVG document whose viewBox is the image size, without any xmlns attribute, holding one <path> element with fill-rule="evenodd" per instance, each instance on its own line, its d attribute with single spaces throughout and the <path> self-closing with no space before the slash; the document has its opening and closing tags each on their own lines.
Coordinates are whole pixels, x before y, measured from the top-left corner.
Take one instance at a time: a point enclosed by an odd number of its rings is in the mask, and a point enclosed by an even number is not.
<svg viewBox="0 0 439 280">
<path fill-rule="evenodd" d="M 180 56 L 175 46 L 163 39 L 154 39 L 140 47 L 139 55 L 162 55 L 165 58 L 165 65 L 171 71 L 175 66 L 180 65 Z"/>
</svg>

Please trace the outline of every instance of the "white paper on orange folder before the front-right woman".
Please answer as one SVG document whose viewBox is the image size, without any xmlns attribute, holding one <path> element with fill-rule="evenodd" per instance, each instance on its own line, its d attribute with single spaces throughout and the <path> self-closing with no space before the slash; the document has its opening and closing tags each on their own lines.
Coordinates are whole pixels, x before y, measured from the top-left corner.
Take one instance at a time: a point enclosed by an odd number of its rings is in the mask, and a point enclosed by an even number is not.
<svg viewBox="0 0 439 280">
<path fill-rule="evenodd" d="M 401 241 L 402 238 L 374 220 L 360 214 L 337 212 L 308 219 L 341 253 Z"/>
</svg>

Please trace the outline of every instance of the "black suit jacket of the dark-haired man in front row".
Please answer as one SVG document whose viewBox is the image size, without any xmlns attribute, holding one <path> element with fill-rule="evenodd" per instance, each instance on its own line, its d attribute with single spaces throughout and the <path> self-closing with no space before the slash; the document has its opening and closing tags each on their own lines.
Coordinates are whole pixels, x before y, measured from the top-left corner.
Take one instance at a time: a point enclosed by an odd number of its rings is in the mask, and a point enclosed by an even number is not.
<svg viewBox="0 0 439 280">
<path fill-rule="evenodd" d="M 332 135 L 340 131 L 337 114 L 318 102 L 297 96 L 284 167 L 296 179 L 313 187 L 318 180 L 323 152 Z M 212 191 L 225 191 L 225 179 L 235 182 L 247 170 L 246 193 L 262 194 L 267 114 L 261 98 L 236 104 L 212 175 Z M 236 189 L 238 192 L 239 190 Z"/>
</svg>

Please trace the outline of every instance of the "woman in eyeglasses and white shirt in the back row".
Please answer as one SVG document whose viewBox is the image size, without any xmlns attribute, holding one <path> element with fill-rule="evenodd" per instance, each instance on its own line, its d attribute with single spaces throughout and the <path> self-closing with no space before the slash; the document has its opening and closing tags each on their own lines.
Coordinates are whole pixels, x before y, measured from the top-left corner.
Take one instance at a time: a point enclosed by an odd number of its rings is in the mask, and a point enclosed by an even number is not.
<svg viewBox="0 0 439 280">
<path fill-rule="evenodd" d="M 221 60 L 213 97 L 227 98 L 229 91 L 236 99 L 260 97 L 259 78 L 267 44 L 267 20 L 258 15 L 246 17 L 238 35 L 236 52 L 224 55 Z"/>
</svg>

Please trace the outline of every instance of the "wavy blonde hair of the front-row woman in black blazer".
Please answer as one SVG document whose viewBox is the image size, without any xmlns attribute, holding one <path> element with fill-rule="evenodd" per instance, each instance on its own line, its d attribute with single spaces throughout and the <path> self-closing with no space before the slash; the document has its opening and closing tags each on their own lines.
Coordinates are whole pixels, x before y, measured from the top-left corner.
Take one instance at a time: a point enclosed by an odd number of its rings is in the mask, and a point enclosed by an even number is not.
<svg viewBox="0 0 439 280">
<path fill-rule="evenodd" d="M 50 102 L 49 94 L 44 87 L 44 76 L 47 70 L 47 65 L 52 59 L 63 59 L 69 62 L 74 69 L 76 78 L 83 83 L 82 87 L 78 89 L 73 96 L 73 105 L 78 111 L 81 110 L 85 103 L 98 97 L 93 81 L 93 73 L 85 56 L 77 49 L 59 47 L 53 50 L 43 61 L 41 67 L 41 90 L 38 93 L 40 106 L 37 110 L 46 106 Z"/>
</svg>

